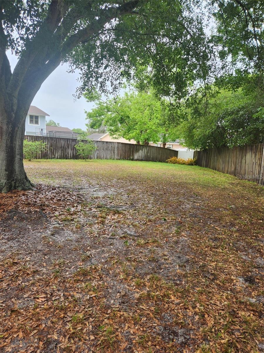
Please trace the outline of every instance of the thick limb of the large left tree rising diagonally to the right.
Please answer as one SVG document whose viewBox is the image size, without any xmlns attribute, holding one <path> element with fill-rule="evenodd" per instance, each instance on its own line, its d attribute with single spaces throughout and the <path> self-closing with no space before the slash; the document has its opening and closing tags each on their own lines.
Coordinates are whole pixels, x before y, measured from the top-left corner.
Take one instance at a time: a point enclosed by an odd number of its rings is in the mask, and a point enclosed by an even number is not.
<svg viewBox="0 0 264 353">
<path fill-rule="evenodd" d="M 23 80 L 29 80 L 30 72 L 34 71 L 37 74 L 37 69 L 40 69 L 45 65 L 44 71 L 52 72 L 62 61 L 63 58 L 79 43 L 86 41 L 91 35 L 95 34 L 103 28 L 103 26 L 111 21 L 112 19 L 122 16 L 124 14 L 131 13 L 131 11 L 140 3 L 141 0 L 131 0 L 118 7 L 110 7 L 107 10 L 103 10 L 101 14 L 98 14 L 99 19 L 93 24 L 89 24 L 86 28 L 79 30 L 77 33 L 71 35 L 67 40 L 60 45 L 60 41 L 67 36 L 65 31 L 61 36 L 54 35 L 54 27 L 61 22 L 61 16 L 58 16 L 58 5 L 56 1 L 51 1 L 49 14 L 44 20 L 38 34 L 32 40 L 21 55 L 18 64 L 15 67 L 10 84 L 8 85 L 8 94 L 14 98 L 17 96 L 18 91 L 22 85 Z M 63 9 L 64 14 L 69 8 L 69 2 L 67 7 Z M 69 28 L 72 28 L 78 20 L 78 16 L 74 11 L 70 11 L 71 16 L 65 16 L 65 21 L 69 21 Z M 86 14 L 87 16 L 87 14 Z M 63 22 L 63 20 L 62 20 Z M 42 45 L 39 47 L 39 42 Z M 52 46 L 48 49 L 50 42 Z M 56 49 L 57 50 L 56 50 Z M 43 53 L 46 52 L 46 56 Z M 46 61 L 43 63 L 43 59 Z M 52 70 L 53 67 L 53 70 Z M 51 70 L 51 71 L 50 71 Z M 46 76 L 46 75 L 44 75 Z M 23 85 L 24 86 L 24 85 Z"/>
</svg>

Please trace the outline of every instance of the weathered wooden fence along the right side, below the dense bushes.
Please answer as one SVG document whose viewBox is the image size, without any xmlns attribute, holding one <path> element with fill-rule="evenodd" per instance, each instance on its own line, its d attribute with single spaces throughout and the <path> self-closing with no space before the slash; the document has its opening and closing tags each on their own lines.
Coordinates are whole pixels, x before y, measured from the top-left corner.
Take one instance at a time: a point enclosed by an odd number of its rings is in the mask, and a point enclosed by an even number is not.
<svg viewBox="0 0 264 353">
<path fill-rule="evenodd" d="M 264 185 L 264 144 L 194 151 L 197 165 Z"/>
</svg>

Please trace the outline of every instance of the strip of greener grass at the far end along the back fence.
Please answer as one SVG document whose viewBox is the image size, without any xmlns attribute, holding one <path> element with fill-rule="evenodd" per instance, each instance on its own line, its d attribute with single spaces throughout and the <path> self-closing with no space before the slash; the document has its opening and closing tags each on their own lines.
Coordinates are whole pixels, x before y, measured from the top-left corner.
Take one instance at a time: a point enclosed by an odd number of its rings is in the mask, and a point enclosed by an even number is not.
<svg viewBox="0 0 264 353">
<path fill-rule="evenodd" d="M 38 169 L 37 178 L 34 178 L 34 182 L 44 181 L 53 183 L 55 180 L 52 175 L 54 168 L 68 173 L 73 168 L 71 175 L 75 179 L 75 185 L 78 185 L 78 181 L 81 182 L 81 174 L 87 175 L 94 178 L 95 176 L 112 177 L 114 178 L 117 174 L 119 177 L 124 179 L 129 178 L 131 175 L 140 175 L 143 180 L 168 180 L 172 183 L 178 184 L 184 182 L 185 184 L 197 185 L 198 187 L 220 187 L 227 188 L 230 186 L 237 186 L 243 188 L 246 186 L 247 189 L 255 188 L 256 185 L 249 183 L 244 180 L 238 180 L 237 178 L 217 172 L 212 169 L 203 168 L 199 166 L 185 166 L 180 164 L 168 164 L 160 162 L 144 162 L 144 161 L 125 161 L 125 160 L 34 160 L 31 162 L 24 161 L 26 171 L 31 174 L 31 168 L 41 166 Z M 44 169 L 42 169 L 44 168 Z M 48 168 L 48 170 L 45 170 Z M 57 175 L 59 181 L 63 175 Z M 73 186 L 75 186 L 73 185 Z"/>
</svg>

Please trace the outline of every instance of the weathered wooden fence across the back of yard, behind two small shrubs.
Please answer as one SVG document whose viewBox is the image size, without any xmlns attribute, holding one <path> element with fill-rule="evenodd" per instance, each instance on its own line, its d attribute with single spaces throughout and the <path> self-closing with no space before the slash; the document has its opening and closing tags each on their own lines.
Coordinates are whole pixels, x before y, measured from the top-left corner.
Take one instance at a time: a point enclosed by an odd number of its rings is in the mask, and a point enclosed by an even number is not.
<svg viewBox="0 0 264 353">
<path fill-rule="evenodd" d="M 28 141 L 43 141 L 47 150 L 37 156 L 38 159 L 80 159 L 74 147 L 77 140 L 71 138 L 25 135 Z M 83 141 L 85 142 L 85 141 Z M 96 151 L 90 159 L 125 159 L 133 161 L 165 162 L 177 157 L 178 151 L 156 146 L 144 146 L 121 142 L 94 141 Z"/>
</svg>

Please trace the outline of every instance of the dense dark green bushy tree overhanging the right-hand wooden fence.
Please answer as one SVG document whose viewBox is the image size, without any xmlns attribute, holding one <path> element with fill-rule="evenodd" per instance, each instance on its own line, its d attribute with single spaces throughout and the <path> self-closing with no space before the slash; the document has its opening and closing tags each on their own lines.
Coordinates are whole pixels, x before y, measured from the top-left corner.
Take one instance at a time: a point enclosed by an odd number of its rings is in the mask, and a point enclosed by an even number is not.
<svg viewBox="0 0 264 353">
<path fill-rule="evenodd" d="M 263 131 L 264 108 L 242 89 L 221 90 L 206 103 L 190 103 L 177 127 L 178 136 L 191 149 L 262 143 Z"/>
</svg>

